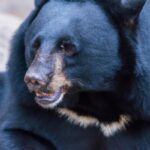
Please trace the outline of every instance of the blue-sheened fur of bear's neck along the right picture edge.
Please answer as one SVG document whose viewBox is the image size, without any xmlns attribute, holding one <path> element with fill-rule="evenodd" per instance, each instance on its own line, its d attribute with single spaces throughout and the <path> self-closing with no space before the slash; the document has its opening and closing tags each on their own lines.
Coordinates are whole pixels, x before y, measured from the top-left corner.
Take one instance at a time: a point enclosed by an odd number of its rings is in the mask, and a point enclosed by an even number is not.
<svg viewBox="0 0 150 150">
<path fill-rule="evenodd" d="M 146 20 L 146 21 L 145 21 Z M 150 119 L 150 19 L 144 12 L 139 19 L 136 38 L 135 79 L 129 94 L 129 101 L 134 105 L 137 116 Z"/>
</svg>

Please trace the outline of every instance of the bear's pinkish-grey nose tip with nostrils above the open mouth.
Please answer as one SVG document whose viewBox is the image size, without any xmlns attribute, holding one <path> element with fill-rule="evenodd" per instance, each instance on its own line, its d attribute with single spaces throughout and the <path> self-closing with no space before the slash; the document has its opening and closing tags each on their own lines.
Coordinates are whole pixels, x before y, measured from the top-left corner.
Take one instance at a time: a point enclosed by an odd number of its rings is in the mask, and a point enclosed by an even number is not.
<svg viewBox="0 0 150 150">
<path fill-rule="evenodd" d="M 40 89 L 46 86 L 46 81 L 41 79 L 38 75 L 33 74 L 26 74 L 24 78 L 25 83 L 27 84 L 29 90 L 32 91 L 39 91 Z"/>
</svg>

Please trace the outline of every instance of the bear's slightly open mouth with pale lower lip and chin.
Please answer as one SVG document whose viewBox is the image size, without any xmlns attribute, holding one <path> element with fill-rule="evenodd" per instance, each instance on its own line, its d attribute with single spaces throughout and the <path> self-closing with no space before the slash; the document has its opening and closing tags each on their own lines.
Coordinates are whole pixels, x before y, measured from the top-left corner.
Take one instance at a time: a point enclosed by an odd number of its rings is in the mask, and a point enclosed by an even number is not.
<svg viewBox="0 0 150 150">
<path fill-rule="evenodd" d="M 65 90 L 61 87 L 53 92 L 38 91 L 35 92 L 35 95 L 35 100 L 38 105 L 43 108 L 53 108 L 63 100 Z"/>
</svg>

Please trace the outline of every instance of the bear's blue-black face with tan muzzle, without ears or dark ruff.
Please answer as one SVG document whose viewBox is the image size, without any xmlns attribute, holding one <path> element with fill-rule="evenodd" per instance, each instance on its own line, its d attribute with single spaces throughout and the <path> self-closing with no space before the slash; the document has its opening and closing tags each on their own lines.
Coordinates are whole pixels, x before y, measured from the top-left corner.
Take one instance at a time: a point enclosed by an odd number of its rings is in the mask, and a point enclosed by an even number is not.
<svg viewBox="0 0 150 150">
<path fill-rule="evenodd" d="M 121 68 L 119 37 L 94 2 L 47 2 L 26 37 L 25 81 L 43 107 L 55 107 L 67 93 L 108 91 Z"/>
</svg>

